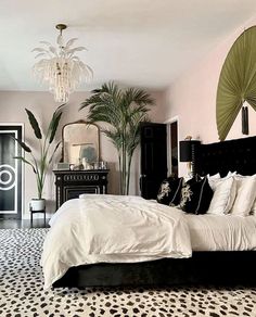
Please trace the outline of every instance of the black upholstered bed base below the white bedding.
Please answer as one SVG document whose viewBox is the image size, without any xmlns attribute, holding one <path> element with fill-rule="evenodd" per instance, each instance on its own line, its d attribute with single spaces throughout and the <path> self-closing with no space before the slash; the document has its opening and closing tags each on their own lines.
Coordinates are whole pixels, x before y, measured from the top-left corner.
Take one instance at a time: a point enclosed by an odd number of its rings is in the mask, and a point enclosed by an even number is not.
<svg viewBox="0 0 256 317">
<path fill-rule="evenodd" d="M 194 252 L 191 258 L 72 267 L 53 287 L 256 286 L 256 251 Z"/>
</svg>

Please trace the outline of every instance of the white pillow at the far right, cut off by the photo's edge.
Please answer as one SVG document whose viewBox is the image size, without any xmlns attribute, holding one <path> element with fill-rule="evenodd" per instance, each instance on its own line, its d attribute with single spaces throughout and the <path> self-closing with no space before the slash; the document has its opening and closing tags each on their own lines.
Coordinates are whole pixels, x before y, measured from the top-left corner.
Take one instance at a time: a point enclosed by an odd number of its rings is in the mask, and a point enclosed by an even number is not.
<svg viewBox="0 0 256 317">
<path fill-rule="evenodd" d="M 248 216 L 256 199 L 256 175 L 249 177 L 235 177 L 236 198 L 231 210 L 235 216 Z"/>
</svg>

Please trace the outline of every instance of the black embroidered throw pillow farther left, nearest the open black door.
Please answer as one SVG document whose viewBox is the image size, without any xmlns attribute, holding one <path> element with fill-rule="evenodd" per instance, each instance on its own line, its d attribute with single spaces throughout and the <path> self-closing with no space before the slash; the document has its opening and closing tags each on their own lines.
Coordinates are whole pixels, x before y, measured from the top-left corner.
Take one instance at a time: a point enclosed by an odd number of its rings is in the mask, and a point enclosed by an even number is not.
<svg viewBox="0 0 256 317">
<path fill-rule="evenodd" d="M 157 194 L 157 202 L 165 205 L 178 205 L 180 203 L 180 194 L 183 178 L 170 176 L 161 183 Z"/>
</svg>

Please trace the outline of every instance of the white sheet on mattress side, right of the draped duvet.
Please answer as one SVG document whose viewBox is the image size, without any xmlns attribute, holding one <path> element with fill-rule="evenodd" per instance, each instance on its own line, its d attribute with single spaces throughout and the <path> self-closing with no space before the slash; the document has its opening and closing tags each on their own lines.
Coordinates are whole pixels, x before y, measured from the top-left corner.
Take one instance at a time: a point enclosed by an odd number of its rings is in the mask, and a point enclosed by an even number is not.
<svg viewBox="0 0 256 317">
<path fill-rule="evenodd" d="M 185 215 L 193 251 L 256 250 L 256 216 Z"/>
</svg>

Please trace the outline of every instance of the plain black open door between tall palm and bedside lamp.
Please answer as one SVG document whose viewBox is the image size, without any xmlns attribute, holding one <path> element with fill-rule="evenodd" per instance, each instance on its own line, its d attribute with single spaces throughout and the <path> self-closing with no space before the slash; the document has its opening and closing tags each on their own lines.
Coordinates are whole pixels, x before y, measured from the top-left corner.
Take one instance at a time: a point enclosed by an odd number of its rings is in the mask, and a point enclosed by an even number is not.
<svg viewBox="0 0 256 317">
<path fill-rule="evenodd" d="M 167 176 L 166 125 L 141 124 L 141 195 L 156 199 L 159 185 Z"/>
</svg>

